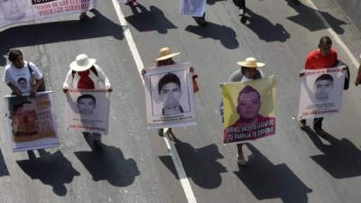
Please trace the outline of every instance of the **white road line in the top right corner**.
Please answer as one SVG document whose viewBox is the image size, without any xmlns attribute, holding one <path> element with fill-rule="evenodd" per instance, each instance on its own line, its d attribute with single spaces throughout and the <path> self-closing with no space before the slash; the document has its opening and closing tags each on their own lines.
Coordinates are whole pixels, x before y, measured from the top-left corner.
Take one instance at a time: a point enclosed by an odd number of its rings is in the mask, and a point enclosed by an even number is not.
<svg viewBox="0 0 361 203">
<path fill-rule="evenodd" d="M 352 61 L 356 69 L 360 66 L 358 61 L 356 60 L 356 57 L 352 54 L 352 52 L 347 48 L 346 44 L 341 40 L 341 38 L 338 36 L 336 32 L 334 32 L 329 26 L 329 22 L 326 21 L 325 17 L 323 17 L 322 14 L 319 13 L 319 8 L 316 7 L 315 4 L 313 4 L 312 0 L 307 0 L 309 2 L 309 5 L 311 8 L 313 8 L 316 11 L 316 14 L 319 15 L 319 18 L 321 19 L 322 23 L 324 23 L 328 27 L 328 31 L 331 33 L 332 38 L 339 44 L 339 46 L 346 52 L 348 58 Z"/>
</svg>

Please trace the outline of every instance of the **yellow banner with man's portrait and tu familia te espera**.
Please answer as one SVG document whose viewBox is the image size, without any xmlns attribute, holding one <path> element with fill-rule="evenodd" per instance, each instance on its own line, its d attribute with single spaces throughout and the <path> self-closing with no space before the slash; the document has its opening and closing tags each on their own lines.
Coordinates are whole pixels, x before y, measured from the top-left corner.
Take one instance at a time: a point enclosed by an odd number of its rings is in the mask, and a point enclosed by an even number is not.
<svg viewBox="0 0 361 203">
<path fill-rule="evenodd" d="M 243 143 L 275 134 L 276 81 L 273 76 L 222 86 L 223 143 Z"/>
</svg>

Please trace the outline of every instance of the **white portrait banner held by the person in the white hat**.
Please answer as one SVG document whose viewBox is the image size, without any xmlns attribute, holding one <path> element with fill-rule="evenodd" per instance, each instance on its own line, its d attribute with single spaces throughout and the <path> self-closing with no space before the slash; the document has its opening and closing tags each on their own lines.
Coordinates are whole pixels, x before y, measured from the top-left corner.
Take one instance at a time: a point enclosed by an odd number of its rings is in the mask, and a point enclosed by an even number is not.
<svg viewBox="0 0 361 203">
<path fill-rule="evenodd" d="M 105 89 L 69 89 L 67 129 L 107 134 L 110 94 Z"/>
</svg>

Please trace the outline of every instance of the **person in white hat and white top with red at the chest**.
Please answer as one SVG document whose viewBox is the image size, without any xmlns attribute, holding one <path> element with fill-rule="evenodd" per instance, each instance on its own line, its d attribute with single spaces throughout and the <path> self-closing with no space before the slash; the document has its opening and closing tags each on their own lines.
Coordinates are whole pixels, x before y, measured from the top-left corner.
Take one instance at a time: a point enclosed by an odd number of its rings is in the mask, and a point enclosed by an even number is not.
<svg viewBox="0 0 361 203">
<path fill-rule="evenodd" d="M 100 89 L 104 88 L 111 92 L 109 79 L 106 77 L 103 69 L 96 64 L 95 59 L 89 59 L 86 54 L 79 54 L 76 60 L 69 64 L 69 71 L 63 84 L 63 91 L 66 93 L 69 88 L 76 89 Z M 101 134 L 83 133 L 85 137 L 92 134 L 94 137 L 93 146 L 101 149 Z"/>
</svg>

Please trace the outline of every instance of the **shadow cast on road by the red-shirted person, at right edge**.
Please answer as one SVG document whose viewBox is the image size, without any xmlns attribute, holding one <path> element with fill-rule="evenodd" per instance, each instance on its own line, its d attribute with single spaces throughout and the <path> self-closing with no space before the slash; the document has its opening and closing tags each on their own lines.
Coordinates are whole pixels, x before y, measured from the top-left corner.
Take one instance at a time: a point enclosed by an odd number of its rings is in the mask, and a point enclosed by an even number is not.
<svg viewBox="0 0 361 203">
<path fill-rule="evenodd" d="M 361 151 L 349 140 L 338 140 L 331 134 L 325 137 L 329 144 L 324 144 L 319 135 L 310 127 L 305 128 L 310 140 L 324 154 L 311 156 L 325 171 L 335 179 L 352 178 L 361 175 Z"/>
</svg>

